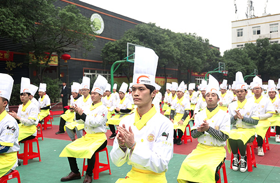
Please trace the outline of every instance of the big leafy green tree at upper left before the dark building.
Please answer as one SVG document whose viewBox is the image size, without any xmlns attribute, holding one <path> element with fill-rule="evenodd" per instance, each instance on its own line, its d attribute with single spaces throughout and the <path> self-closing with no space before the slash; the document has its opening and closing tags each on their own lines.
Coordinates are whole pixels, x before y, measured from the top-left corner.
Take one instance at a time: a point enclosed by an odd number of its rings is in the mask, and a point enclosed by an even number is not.
<svg viewBox="0 0 280 183">
<path fill-rule="evenodd" d="M 76 6 L 59 8 L 54 7 L 52 2 L 13 0 L 5 1 L 1 5 L 4 13 L 0 15 L 5 21 L 3 22 L 5 27 L 0 29 L 1 35 L 13 38 L 18 34 L 18 31 L 14 32 L 14 30 L 26 26 L 24 33 L 16 36 L 14 41 L 25 42 L 23 50 L 26 53 L 33 53 L 32 59 L 29 58 L 28 62 L 35 66 L 38 79 L 41 82 L 43 82 L 45 69 L 49 67 L 48 63 L 52 53 L 60 56 L 62 53 L 71 52 L 78 47 L 90 50 L 93 48 L 92 42 L 95 40 L 91 28 L 91 25 L 95 25 L 91 23 L 89 18 L 81 15 Z M 12 14 L 10 20 L 9 13 L 14 11 L 15 13 Z M 17 16 L 23 21 L 22 23 L 15 21 Z M 7 28 L 8 24 L 13 21 L 15 21 L 13 27 Z"/>
</svg>

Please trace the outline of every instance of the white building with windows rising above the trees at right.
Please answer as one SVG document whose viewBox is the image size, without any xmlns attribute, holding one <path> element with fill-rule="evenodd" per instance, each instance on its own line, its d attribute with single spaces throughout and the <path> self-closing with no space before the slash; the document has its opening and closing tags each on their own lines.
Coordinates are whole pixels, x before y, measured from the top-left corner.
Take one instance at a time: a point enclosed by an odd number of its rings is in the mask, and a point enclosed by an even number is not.
<svg viewBox="0 0 280 183">
<path fill-rule="evenodd" d="M 256 43 L 268 38 L 270 43 L 280 43 L 280 14 L 232 21 L 232 48 L 242 48 L 245 43 Z"/>
</svg>

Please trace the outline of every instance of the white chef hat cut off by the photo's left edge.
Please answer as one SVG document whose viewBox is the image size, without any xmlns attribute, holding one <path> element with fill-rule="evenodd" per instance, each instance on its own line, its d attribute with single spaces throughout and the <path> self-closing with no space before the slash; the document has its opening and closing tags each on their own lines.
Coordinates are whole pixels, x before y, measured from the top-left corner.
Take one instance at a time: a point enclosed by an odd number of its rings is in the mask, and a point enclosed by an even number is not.
<svg viewBox="0 0 280 183">
<path fill-rule="evenodd" d="M 0 73 L 0 78 L 0 97 L 9 101 L 13 90 L 14 80 L 12 76 L 2 73 Z"/>
</svg>

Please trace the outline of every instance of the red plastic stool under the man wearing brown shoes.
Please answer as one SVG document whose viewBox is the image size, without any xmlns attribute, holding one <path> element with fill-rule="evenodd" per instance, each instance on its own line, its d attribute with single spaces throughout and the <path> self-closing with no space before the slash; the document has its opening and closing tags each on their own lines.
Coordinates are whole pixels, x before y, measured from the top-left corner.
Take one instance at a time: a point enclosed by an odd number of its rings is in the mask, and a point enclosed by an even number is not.
<svg viewBox="0 0 280 183">
<path fill-rule="evenodd" d="M 102 151 L 106 151 L 108 164 L 99 163 L 99 153 L 102 152 Z M 85 163 L 86 163 L 86 159 L 83 159 L 81 176 L 83 176 L 83 172 L 87 171 L 87 168 L 88 168 L 88 165 L 85 165 Z M 106 170 L 109 170 L 109 174 L 111 174 L 107 147 L 105 147 L 102 150 L 97 151 L 95 153 L 95 164 L 94 164 L 94 168 L 93 168 L 93 179 L 98 179 L 99 178 L 99 173 L 102 172 L 102 171 L 106 171 Z"/>
</svg>

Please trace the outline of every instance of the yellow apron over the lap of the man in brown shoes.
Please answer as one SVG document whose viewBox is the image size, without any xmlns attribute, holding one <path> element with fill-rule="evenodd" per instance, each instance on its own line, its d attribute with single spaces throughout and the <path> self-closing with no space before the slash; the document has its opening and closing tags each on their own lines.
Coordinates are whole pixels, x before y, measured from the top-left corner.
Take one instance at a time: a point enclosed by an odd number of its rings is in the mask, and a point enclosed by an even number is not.
<svg viewBox="0 0 280 183">
<path fill-rule="evenodd" d="M 91 159 L 95 151 L 107 140 L 105 133 L 86 134 L 62 150 L 59 157 Z"/>
</svg>

